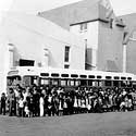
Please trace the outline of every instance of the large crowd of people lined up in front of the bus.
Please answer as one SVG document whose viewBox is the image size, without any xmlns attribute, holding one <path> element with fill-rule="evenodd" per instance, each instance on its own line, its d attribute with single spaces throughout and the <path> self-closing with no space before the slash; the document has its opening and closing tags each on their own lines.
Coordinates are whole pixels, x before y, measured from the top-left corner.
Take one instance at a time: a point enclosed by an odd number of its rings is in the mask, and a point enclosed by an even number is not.
<svg viewBox="0 0 136 136">
<path fill-rule="evenodd" d="M 10 116 L 53 116 L 134 110 L 134 88 L 63 87 L 9 88 L 1 95 L 1 114 Z"/>
</svg>

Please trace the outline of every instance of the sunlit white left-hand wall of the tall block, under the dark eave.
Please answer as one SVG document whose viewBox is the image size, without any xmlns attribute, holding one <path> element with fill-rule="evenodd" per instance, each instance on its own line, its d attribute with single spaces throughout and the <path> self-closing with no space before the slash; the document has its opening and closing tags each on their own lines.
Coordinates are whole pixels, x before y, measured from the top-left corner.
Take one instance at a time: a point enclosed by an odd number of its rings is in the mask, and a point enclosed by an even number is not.
<svg viewBox="0 0 136 136">
<path fill-rule="evenodd" d="M 81 36 L 87 46 L 87 62 L 92 66 L 97 66 L 97 50 L 98 50 L 98 21 L 87 23 L 87 30 L 81 32 L 81 24 L 73 25 L 70 28 L 70 32 Z M 97 69 L 97 67 L 95 67 Z M 92 70 L 92 69 L 91 69 Z"/>
</svg>

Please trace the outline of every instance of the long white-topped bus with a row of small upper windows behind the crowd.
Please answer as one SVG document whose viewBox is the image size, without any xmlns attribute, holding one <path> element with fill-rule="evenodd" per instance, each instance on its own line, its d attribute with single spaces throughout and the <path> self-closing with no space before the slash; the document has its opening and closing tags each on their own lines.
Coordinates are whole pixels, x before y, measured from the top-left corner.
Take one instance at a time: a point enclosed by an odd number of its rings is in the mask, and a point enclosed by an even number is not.
<svg viewBox="0 0 136 136">
<path fill-rule="evenodd" d="M 61 86 L 71 90 L 75 87 L 134 87 L 136 82 L 131 73 L 18 66 L 10 70 L 7 77 L 8 88 L 17 84 L 23 87 Z"/>
</svg>

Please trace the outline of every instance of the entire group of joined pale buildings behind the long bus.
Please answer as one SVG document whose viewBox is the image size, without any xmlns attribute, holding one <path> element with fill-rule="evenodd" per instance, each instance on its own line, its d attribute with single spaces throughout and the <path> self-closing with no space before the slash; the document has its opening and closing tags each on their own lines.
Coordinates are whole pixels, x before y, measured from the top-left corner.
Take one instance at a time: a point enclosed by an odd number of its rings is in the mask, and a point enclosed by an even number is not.
<svg viewBox="0 0 136 136">
<path fill-rule="evenodd" d="M 0 88 L 5 90 L 11 67 L 25 65 L 135 74 L 135 17 L 115 16 L 109 0 L 83 0 L 37 15 L 8 13 L 0 26 Z"/>
</svg>

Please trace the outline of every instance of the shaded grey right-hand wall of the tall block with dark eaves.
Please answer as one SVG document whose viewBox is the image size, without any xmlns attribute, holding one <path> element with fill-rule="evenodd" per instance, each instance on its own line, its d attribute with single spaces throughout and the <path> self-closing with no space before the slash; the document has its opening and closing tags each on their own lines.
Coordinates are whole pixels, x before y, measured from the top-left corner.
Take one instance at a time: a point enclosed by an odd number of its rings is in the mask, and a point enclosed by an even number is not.
<svg viewBox="0 0 136 136">
<path fill-rule="evenodd" d="M 123 61 L 123 27 L 99 22 L 99 48 L 98 48 L 98 70 L 122 72 Z M 108 62 L 112 63 L 113 70 L 109 70 Z"/>
</svg>

